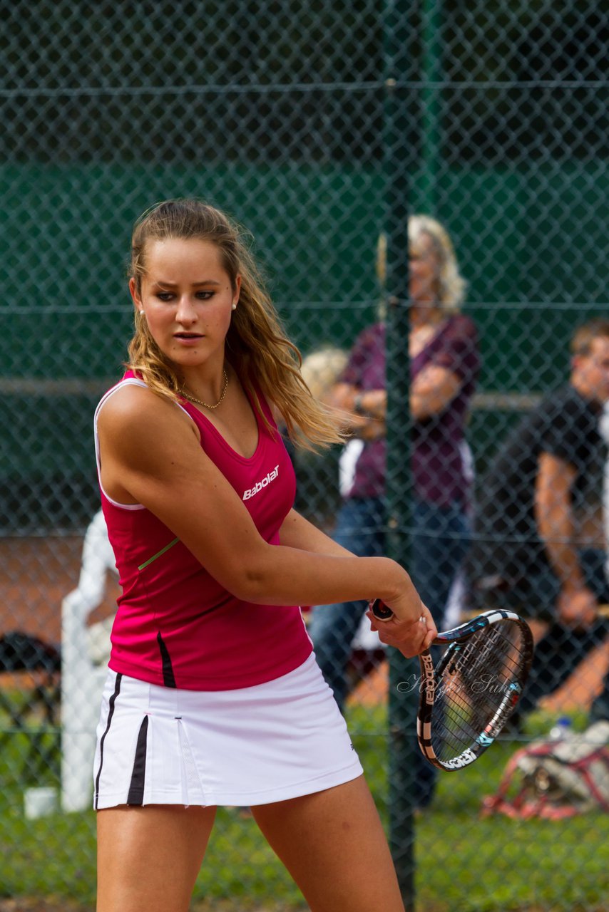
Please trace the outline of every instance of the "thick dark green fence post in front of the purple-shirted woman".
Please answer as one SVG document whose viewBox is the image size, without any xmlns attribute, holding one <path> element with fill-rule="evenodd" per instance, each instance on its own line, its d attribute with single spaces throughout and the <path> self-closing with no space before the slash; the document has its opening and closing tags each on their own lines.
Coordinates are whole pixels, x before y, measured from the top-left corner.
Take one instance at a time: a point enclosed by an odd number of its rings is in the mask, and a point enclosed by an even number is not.
<svg viewBox="0 0 609 912">
<path fill-rule="evenodd" d="M 408 136 L 404 80 L 408 3 L 396 0 L 386 7 L 385 122 L 386 180 L 386 370 L 387 370 L 387 544 L 395 560 L 408 565 L 410 487 L 410 421 L 408 352 Z M 412 671 L 412 661 L 397 650 L 390 658 L 390 845 L 407 912 L 415 908 L 414 826 L 410 758 L 415 704 L 404 699 L 397 683 Z"/>
</svg>

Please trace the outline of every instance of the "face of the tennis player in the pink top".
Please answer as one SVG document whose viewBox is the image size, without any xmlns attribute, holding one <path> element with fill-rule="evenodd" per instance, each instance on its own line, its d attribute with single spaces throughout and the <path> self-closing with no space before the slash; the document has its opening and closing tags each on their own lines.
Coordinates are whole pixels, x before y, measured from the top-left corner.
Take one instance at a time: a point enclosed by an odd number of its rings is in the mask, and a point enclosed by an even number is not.
<svg viewBox="0 0 609 912">
<path fill-rule="evenodd" d="M 197 238 L 149 241 L 144 264 L 141 290 L 131 279 L 131 296 L 163 355 L 183 368 L 215 354 L 224 358 L 241 279 L 233 287 L 215 244 Z"/>
</svg>

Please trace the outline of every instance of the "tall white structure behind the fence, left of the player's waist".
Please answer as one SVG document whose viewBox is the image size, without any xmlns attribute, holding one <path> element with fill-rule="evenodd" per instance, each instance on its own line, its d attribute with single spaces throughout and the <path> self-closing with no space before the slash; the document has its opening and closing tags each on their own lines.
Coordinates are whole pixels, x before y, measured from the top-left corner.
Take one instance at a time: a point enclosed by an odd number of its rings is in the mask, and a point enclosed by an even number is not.
<svg viewBox="0 0 609 912">
<path fill-rule="evenodd" d="M 113 618 L 90 627 L 89 614 L 104 598 L 114 554 L 101 511 L 85 534 L 79 585 L 61 604 L 61 806 L 91 807 L 95 729 L 110 657 Z"/>
</svg>

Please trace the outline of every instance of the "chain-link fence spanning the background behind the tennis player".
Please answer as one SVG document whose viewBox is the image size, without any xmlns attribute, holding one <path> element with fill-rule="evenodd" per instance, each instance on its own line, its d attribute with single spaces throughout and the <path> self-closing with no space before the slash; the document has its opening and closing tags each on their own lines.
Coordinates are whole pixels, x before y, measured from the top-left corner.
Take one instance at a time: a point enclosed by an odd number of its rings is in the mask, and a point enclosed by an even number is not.
<svg viewBox="0 0 609 912">
<path fill-rule="evenodd" d="M 593 620 L 609 603 L 606 326 L 570 348 L 577 326 L 609 316 L 604 5 L 3 0 L 0 10 L 0 897 L 92 903 L 90 706 L 116 596 L 104 530 L 89 526 L 92 412 L 131 334 L 131 224 L 153 202 L 197 195 L 251 230 L 311 386 L 355 412 L 345 451 L 295 457 L 299 509 L 355 550 L 392 546 L 401 517 L 438 623 L 509 604 L 541 637 L 512 731 L 470 771 L 433 782 L 412 729 L 408 770 L 387 760 L 388 702 L 392 713 L 415 705 L 404 688 L 396 696 L 409 667 L 390 675 L 358 629 L 361 607 L 342 610 L 350 626 L 334 628 L 339 646 L 320 661 L 392 831 L 407 903 L 607 908 L 606 813 L 479 818 L 517 747 L 557 716 L 583 729 L 609 714 L 609 622 Z M 437 306 L 441 237 L 417 235 L 408 264 L 404 212 L 446 228 L 467 281 L 460 313 Z M 400 326 L 392 294 L 412 306 L 409 407 L 397 369 L 407 340 L 386 333 Z M 392 435 L 404 439 L 409 410 L 411 458 L 400 460 Z M 88 572 L 66 599 L 88 527 Z M 253 822 L 230 809 L 195 901 L 302 907 Z"/>
</svg>

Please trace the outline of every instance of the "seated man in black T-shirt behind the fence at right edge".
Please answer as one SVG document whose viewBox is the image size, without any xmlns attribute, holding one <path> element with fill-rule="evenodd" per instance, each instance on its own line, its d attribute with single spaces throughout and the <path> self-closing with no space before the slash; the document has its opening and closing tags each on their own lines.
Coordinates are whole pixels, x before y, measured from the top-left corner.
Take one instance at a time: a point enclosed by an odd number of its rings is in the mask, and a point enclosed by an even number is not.
<svg viewBox="0 0 609 912">
<path fill-rule="evenodd" d="M 599 603 L 609 601 L 599 430 L 609 401 L 609 320 L 580 326 L 571 350 L 569 383 L 509 434 L 481 479 L 467 560 L 477 609 L 551 620 L 535 649 L 525 712 L 609 632 L 598 617 Z M 609 678 L 592 716 L 609 719 Z"/>
</svg>

